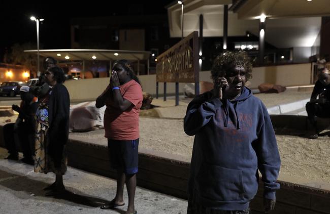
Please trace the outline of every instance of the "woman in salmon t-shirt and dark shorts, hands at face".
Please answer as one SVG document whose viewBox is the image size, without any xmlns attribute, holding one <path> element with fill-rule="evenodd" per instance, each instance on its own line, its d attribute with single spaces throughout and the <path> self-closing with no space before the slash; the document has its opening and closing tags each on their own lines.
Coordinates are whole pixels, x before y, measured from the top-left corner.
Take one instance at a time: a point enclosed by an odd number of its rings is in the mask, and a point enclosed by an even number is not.
<svg viewBox="0 0 330 214">
<path fill-rule="evenodd" d="M 142 88 L 127 60 L 116 61 L 110 83 L 96 99 L 96 107 L 107 106 L 104 114 L 105 137 L 108 139 L 111 166 L 117 169 L 117 192 L 102 209 L 124 205 L 126 182 L 128 207 L 126 214 L 137 213 L 134 207 L 136 174 L 138 173 L 139 112 L 142 106 Z"/>
</svg>

